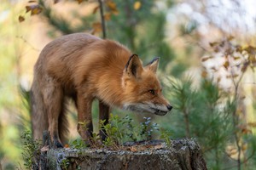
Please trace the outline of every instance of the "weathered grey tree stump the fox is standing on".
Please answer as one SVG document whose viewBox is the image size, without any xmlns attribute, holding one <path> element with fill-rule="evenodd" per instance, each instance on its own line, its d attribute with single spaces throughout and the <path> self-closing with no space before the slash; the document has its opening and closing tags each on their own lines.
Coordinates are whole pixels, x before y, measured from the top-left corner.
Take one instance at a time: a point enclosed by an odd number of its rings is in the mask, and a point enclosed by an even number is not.
<svg viewBox="0 0 256 170">
<path fill-rule="evenodd" d="M 42 152 L 40 169 L 207 169 L 195 139 L 174 139 L 169 145 L 160 140 L 129 143 L 120 150 L 65 148 Z"/>
</svg>

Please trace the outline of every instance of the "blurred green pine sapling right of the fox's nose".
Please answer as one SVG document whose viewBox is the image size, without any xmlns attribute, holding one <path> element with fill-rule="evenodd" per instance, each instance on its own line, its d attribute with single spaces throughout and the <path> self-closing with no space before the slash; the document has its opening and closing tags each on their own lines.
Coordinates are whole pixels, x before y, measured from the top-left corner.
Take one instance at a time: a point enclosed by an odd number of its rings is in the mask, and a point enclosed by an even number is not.
<svg viewBox="0 0 256 170">
<path fill-rule="evenodd" d="M 223 161 L 225 150 L 235 130 L 229 95 L 224 95 L 207 79 L 202 80 L 198 87 L 193 87 L 191 80 L 170 78 L 167 83 L 174 107 L 172 137 L 197 139 L 207 164 L 219 169 L 226 163 Z"/>
</svg>

